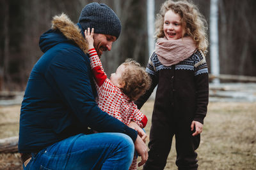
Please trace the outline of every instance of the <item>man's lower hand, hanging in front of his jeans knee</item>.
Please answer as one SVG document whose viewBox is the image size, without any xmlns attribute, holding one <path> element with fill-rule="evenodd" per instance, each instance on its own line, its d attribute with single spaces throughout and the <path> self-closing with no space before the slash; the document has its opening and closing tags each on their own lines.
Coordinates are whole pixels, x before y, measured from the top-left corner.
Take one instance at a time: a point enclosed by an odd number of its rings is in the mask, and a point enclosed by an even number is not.
<svg viewBox="0 0 256 170">
<path fill-rule="evenodd" d="M 134 147 L 138 155 L 141 156 L 141 162 L 138 164 L 138 166 L 143 166 L 143 164 L 145 164 L 145 162 L 148 159 L 148 150 L 147 146 L 145 145 L 144 141 L 140 138 L 139 135 L 137 136 L 137 139 L 134 142 Z"/>
</svg>

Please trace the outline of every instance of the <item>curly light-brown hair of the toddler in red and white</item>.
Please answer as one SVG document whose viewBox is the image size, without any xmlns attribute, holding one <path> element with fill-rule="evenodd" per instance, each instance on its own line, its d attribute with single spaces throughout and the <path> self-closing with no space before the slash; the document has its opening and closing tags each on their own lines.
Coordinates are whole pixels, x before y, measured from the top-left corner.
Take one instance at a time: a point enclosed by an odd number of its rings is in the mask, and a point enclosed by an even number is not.
<svg viewBox="0 0 256 170">
<path fill-rule="evenodd" d="M 125 66 L 125 71 L 121 81 L 124 81 L 125 85 L 121 91 L 129 97 L 130 101 L 136 101 L 149 89 L 151 78 L 145 68 L 135 60 L 127 59 L 122 64 Z"/>
</svg>

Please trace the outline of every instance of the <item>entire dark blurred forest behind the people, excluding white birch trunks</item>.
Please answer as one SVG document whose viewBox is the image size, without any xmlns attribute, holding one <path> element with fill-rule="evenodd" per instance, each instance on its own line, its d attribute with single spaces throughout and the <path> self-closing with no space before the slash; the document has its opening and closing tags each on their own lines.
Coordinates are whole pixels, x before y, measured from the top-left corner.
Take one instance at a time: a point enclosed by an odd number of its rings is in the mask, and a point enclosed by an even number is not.
<svg viewBox="0 0 256 170">
<path fill-rule="evenodd" d="M 122 22 L 120 38 L 102 57 L 105 71 L 112 73 L 128 57 L 147 66 L 147 0 L 0 0 L 0 91 L 26 88 L 29 73 L 42 55 L 40 35 L 51 27 L 54 15 L 64 12 L 77 23 L 83 7 L 92 2 L 108 4 Z M 154 16 L 163 2 L 155 1 Z M 209 24 L 211 1 L 193 2 Z M 219 0 L 218 8 L 220 73 L 256 76 L 256 1 Z M 209 52 L 209 68 L 210 57 Z"/>
</svg>

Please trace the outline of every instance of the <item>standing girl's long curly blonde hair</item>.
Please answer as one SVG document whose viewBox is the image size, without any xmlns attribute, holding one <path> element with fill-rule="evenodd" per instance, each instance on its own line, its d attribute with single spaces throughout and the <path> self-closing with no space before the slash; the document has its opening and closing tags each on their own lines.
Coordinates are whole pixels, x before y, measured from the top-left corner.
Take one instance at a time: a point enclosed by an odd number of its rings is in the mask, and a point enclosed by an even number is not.
<svg viewBox="0 0 256 170">
<path fill-rule="evenodd" d="M 207 53 L 207 22 L 204 15 L 200 13 L 197 6 L 191 1 L 165 1 L 156 16 L 156 38 L 164 37 L 164 15 L 166 11 L 172 10 L 181 18 L 182 28 L 185 30 L 184 36 L 191 36 L 196 42 L 198 50 Z"/>
</svg>

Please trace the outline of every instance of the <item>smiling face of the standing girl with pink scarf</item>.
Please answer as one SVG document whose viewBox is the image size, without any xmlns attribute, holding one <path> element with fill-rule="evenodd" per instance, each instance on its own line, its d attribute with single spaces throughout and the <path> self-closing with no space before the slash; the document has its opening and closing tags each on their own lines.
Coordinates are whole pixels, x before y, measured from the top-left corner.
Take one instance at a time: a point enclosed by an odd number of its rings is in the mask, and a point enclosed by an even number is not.
<svg viewBox="0 0 256 170">
<path fill-rule="evenodd" d="M 168 40 L 180 39 L 184 36 L 181 18 L 177 13 L 169 10 L 164 15 L 164 35 Z"/>
</svg>

